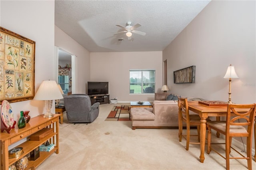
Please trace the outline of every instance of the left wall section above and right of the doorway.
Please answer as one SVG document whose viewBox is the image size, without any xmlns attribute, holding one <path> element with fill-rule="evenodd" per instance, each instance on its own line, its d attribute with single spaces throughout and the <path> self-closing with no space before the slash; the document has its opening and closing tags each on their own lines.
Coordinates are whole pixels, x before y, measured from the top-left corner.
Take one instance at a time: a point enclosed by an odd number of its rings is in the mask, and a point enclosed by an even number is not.
<svg viewBox="0 0 256 170">
<path fill-rule="evenodd" d="M 57 26 L 55 26 L 55 45 L 76 56 L 76 93 L 85 94 L 86 84 L 90 80 L 90 52 Z"/>
</svg>

